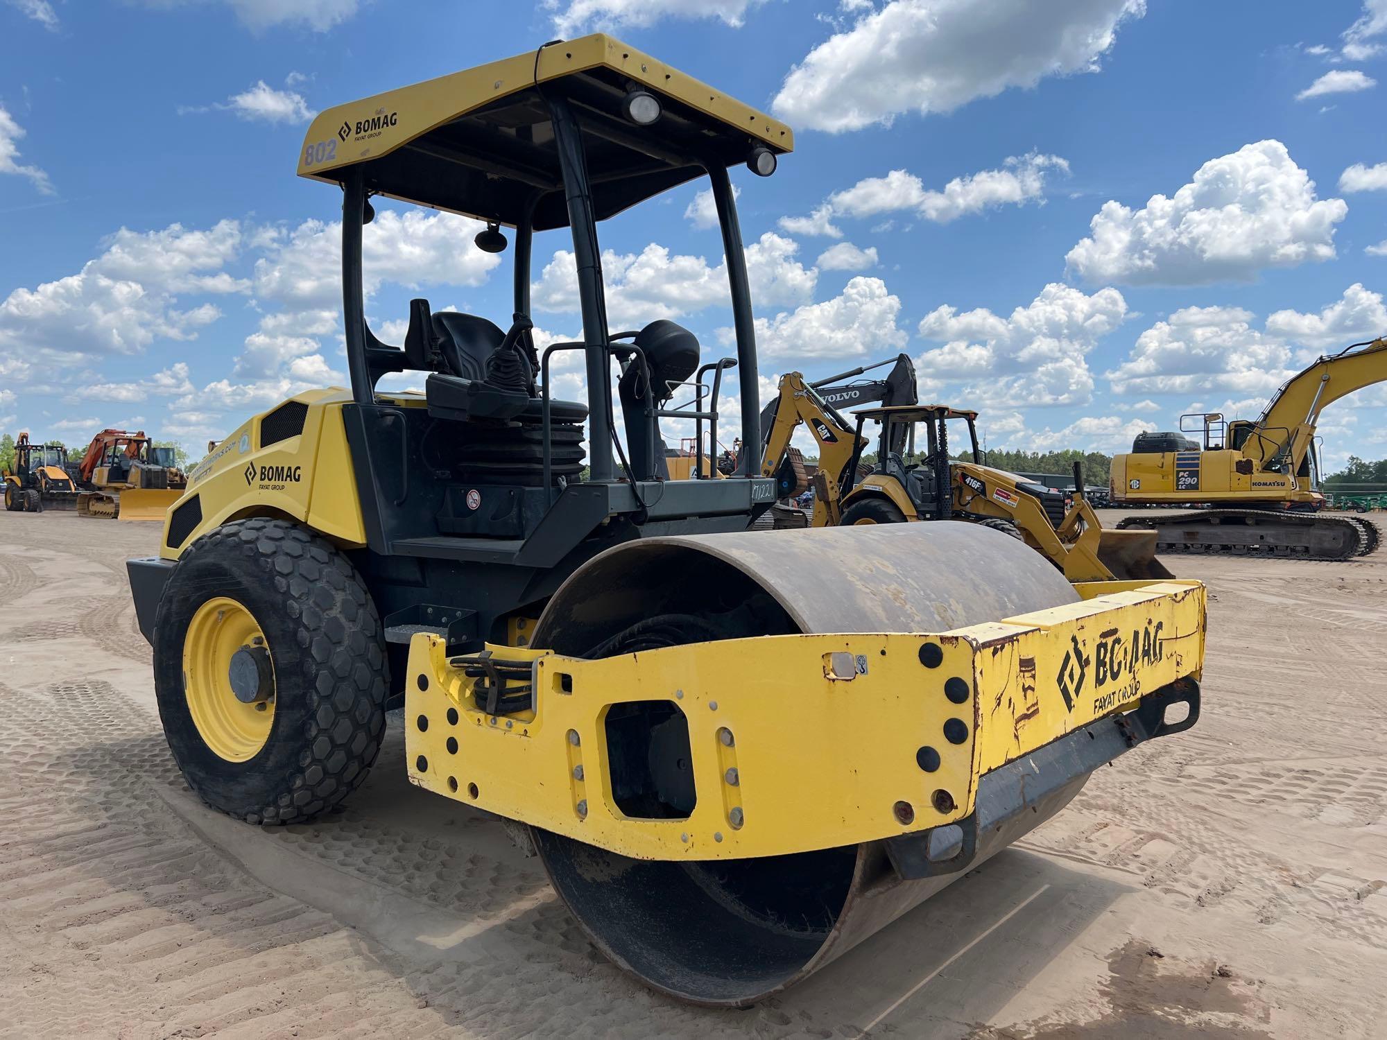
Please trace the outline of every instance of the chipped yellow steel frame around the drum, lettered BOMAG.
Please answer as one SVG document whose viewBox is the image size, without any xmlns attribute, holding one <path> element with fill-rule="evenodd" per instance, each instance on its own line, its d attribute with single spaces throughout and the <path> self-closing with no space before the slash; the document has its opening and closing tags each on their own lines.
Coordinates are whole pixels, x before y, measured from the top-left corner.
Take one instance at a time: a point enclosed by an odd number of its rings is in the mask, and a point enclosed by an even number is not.
<svg viewBox="0 0 1387 1040">
<path fill-rule="evenodd" d="M 528 666 L 530 709 L 510 716 L 479 707 L 470 659 L 449 663 L 440 636 L 417 634 L 409 779 L 651 860 L 775 856 L 954 822 L 990 770 L 1198 678 L 1200 582 L 1079 592 L 1078 603 L 939 634 L 759 636 L 606 660 L 491 646 Z M 628 702 L 667 702 L 687 720 L 687 818 L 617 807 L 606 714 Z"/>
</svg>

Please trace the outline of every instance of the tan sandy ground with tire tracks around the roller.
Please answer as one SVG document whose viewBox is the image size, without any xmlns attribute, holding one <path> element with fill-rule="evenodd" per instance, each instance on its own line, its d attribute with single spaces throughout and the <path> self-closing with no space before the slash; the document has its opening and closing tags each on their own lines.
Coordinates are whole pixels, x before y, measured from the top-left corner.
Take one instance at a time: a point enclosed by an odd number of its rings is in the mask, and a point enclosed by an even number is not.
<svg viewBox="0 0 1387 1040">
<path fill-rule="evenodd" d="M 1166 560 L 1209 587 L 1204 716 L 781 998 L 621 976 L 501 825 L 409 788 L 197 803 L 126 556 L 154 524 L 0 512 L 0 1036 L 1387 1036 L 1387 549 Z"/>
</svg>

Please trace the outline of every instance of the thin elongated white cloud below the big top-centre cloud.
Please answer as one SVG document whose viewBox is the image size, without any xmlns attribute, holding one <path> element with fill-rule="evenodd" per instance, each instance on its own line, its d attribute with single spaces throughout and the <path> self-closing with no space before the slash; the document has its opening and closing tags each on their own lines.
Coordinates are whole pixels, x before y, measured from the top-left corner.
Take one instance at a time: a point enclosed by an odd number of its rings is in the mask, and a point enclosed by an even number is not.
<svg viewBox="0 0 1387 1040">
<path fill-rule="evenodd" d="M 1069 171 L 1058 155 L 1013 155 L 1003 169 L 983 169 L 954 177 L 942 191 L 927 190 L 914 173 L 893 169 L 884 177 L 859 180 L 846 191 L 829 198 L 834 214 L 875 216 L 877 214 L 914 209 L 927 220 L 949 223 L 967 214 L 976 214 L 1006 204 L 1042 198 L 1047 169 Z"/>
</svg>

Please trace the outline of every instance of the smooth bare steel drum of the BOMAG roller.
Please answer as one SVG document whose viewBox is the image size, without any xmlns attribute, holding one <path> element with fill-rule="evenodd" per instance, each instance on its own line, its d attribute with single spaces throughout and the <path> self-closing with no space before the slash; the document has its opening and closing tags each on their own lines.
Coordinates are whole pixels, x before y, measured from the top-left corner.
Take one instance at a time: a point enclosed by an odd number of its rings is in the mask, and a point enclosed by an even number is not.
<svg viewBox="0 0 1387 1040">
<path fill-rule="evenodd" d="M 609 551 L 569 578 L 534 642 L 584 656 L 645 650 L 659 645 L 662 618 L 684 618 L 670 623 L 667 642 L 706 639 L 734 603 L 746 606 L 734 612 L 728 635 L 752 636 L 940 631 L 1076 599 L 1039 553 L 974 524 L 652 538 Z M 632 638 L 623 641 L 623 631 Z M 902 709 L 915 710 L 904 692 Z M 721 716 L 735 718 L 727 706 Z M 852 720 L 845 692 L 843 725 Z M 1022 815 L 986 828 L 970 869 L 1062 808 L 1086 779 L 1080 770 L 1037 792 Z M 813 804 L 802 808 L 814 813 Z M 904 879 L 888 840 L 688 863 L 533 833 L 556 892 L 605 954 L 656 989 L 713 1007 L 750 1004 L 795 983 L 961 876 Z"/>
</svg>

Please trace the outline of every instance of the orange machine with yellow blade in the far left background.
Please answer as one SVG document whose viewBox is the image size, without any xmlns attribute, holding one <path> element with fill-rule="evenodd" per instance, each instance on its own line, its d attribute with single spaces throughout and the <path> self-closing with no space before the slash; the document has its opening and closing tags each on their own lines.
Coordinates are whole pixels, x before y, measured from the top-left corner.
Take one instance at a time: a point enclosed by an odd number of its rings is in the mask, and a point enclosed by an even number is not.
<svg viewBox="0 0 1387 1040">
<path fill-rule="evenodd" d="M 78 516 L 164 520 L 183 496 L 187 476 L 172 448 L 155 448 L 143 430 L 103 430 L 82 458 Z"/>
</svg>

